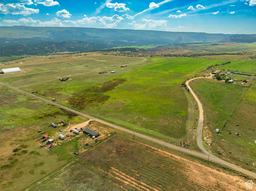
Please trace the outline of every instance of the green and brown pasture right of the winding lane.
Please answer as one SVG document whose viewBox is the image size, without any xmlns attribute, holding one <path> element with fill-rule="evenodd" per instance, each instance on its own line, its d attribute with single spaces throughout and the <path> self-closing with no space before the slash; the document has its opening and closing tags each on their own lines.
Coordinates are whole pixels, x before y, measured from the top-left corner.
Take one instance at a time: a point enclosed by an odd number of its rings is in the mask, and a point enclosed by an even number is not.
<svg viewBox="0 0 256 191">
<path fill-rule="evenodd" d="M 224 160 L 256 171 L 253 165 L 256 157 L 255 84 L 248 89 L 235 84 L 197 79 L 191 85 L 203 103 L 205 120 L 202 137 L 211 140 L 210 144 L 204 141 L 206 148 Z M 225 126 L 224 122 L 227 122 Z M 222 131 L 217 134 L 215 129 Z"/>
</svg>

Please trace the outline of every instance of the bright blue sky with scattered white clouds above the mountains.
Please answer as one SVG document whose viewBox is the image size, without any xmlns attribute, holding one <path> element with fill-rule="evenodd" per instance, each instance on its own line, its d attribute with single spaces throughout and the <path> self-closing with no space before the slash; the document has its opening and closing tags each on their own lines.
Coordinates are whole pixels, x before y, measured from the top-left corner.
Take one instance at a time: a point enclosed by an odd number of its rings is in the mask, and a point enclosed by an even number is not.
<svg viewBox="0 0 256 191">
<path fill-rule="evenodd" d="M 1 0 L 0 26 L 256 34 L 256 0 Z"/>
</svg>

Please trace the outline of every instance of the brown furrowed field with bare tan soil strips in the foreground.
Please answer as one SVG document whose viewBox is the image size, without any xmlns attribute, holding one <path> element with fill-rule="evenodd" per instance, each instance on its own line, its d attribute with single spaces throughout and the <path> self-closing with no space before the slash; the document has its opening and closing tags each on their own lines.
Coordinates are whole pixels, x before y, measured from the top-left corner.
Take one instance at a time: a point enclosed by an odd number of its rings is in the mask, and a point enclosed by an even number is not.
<svg viewBox="0 0 256 191">
<path fill-rule="evenodd" d="M 132 138 L 115 134 L 26 190 L 246 190 L 239 173 Z"/>
</svg>

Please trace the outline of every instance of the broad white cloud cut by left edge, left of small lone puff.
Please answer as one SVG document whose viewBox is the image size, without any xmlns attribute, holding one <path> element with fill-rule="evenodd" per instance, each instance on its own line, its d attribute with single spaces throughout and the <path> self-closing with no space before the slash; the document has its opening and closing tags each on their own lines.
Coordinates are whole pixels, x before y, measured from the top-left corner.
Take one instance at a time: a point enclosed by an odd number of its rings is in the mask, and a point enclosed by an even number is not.
<svg viewBox="0 0 256 191">
<path fill-rule="evenodd" d="M 20 4 L 0 4 L 0 13 L 2 14 L 13 14 L 13 15 L 30 15 L 39 13 L 39 9 L 27 8 Z"/>
</svg>

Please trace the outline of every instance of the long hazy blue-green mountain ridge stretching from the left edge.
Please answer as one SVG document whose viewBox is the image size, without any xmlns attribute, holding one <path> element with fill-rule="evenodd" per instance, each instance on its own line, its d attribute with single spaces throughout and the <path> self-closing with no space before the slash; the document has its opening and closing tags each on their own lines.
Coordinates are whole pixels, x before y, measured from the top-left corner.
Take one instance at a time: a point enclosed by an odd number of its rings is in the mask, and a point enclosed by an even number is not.
<svg viewBox="0 0 256 191">
<path fill-rule="evenodd" d="M 234 34 L 79 27 L 0 27 L 0 47 L 40 42 L 84 41 L 114 46 L 217 42 Z"/>
</svg>

